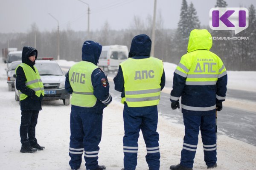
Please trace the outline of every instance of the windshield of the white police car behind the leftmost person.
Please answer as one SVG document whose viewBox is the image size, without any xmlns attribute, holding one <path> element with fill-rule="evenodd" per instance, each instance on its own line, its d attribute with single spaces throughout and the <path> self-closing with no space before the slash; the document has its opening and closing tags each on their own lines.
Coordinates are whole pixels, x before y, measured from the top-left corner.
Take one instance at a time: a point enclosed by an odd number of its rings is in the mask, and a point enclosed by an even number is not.
<svg viewBox="0 0 256 170">
<path fill-rule="evenodd" d="M 63 72 L 57 63 L 35 63 L 36 68 L 41 76 L 56 75 L 62 76 Z"/>
</svg>

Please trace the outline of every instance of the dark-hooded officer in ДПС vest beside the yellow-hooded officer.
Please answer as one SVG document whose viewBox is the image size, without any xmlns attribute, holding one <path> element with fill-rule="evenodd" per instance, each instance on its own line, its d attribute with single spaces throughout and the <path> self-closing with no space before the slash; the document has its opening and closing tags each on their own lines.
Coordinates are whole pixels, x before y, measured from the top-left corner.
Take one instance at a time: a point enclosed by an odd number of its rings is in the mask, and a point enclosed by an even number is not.
<svg viewBox="0 0 256 170">
<path fill-rule="evenodd" d="M 165 85 L 163 62 L 150 57 L 151 40 L 145 34 L 131 42 L 129 58 L 122 62 L 114 78 L 115 89 L 122 92 L 124 104 L 124 169 L 135 170 L 140 130 L 147 148 L 149 170 L 159 170 L 160 152 L 157 133 L 157 104 Z"/>
</svg>

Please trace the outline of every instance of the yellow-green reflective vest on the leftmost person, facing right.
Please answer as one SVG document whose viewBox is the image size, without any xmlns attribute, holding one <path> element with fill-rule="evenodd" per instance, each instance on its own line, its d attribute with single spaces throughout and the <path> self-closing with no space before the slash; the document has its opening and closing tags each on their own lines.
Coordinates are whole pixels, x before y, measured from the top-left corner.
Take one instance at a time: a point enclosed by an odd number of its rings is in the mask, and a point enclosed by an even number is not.
<svg viewBox="0 0 256 170">
<path fill-rule="evenodd" d="M 26 86 L 28 88 L 31 88 L 33 91 L 35 91 L 36 96 L 40 97 L 41 94 L 44 96 L 44 85 L 38 73 L 38 69 L 34 66 L 35 68 L 35 71 L 34 71 L 29 65 L 25 63 L 21 63 L 19 66 L 23 68 L 23 71 L 25 73 Z M 15 72 L 17 71 L 17 68 Z M 24 100 L 27 98 L 27 95 L 21 93 L 21 91 L 19 91 L 19 96 L 20 96 L 20 100 Z"/>
</svg>

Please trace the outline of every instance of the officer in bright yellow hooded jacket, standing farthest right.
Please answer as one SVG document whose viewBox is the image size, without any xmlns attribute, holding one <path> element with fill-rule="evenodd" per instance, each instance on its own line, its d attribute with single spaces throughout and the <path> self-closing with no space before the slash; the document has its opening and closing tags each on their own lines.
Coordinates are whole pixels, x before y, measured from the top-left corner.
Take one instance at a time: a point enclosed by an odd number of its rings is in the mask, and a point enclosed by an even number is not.
<svg viewBox="0 0 256 170">
<path fill-rule="evenodd" d="M 192 170 L 201 130 L 204 161 L 207 168 L 217 167 L 215 111 L 221 111 L 227 91 L 227 71 L 221 59 L 210 48 L 211 34 L 206 29 L 190 32 L 188 52 L 174 72 L 171 91 L 172 109 L 181 108 L 185 125 L 180 164 L 171 170 Z"/>
</svg>

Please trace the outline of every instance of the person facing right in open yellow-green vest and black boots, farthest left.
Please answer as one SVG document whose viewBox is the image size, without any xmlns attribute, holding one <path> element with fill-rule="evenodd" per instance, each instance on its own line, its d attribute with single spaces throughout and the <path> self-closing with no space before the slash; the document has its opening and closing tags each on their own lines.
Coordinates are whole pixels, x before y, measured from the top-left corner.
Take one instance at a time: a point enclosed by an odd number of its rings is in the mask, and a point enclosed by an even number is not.
<svg viewBox="0 0 256 170">
<path fill-rule="evenodd" d="M 16 88 L 19 91 L 21 110 L 21 153 L 33 153 L 44 149 L 35 138 L 35 126 L 38 113 L 42 110 L 41 101 L 44 96 L 44 86 L 34 66 L 37 55 L 38 51 L 35 48 L 23 47 L 22 63 L 16 68 Z"/>
</svg>

